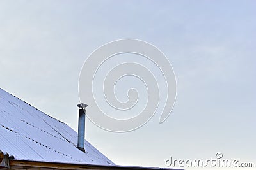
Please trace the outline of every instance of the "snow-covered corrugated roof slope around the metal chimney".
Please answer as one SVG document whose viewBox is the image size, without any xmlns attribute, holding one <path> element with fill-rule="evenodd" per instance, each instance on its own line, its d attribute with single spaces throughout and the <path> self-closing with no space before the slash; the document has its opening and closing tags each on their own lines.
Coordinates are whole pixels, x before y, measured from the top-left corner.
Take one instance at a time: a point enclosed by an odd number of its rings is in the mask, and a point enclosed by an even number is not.
<svg viewBox="0 0 256 170">
<path fill-rule="evenodd" d="M 113 164 L 88 141 L 76 148 L 77 132 L 0 89 L 0 152 L 16 160 Z"/>
</svg>

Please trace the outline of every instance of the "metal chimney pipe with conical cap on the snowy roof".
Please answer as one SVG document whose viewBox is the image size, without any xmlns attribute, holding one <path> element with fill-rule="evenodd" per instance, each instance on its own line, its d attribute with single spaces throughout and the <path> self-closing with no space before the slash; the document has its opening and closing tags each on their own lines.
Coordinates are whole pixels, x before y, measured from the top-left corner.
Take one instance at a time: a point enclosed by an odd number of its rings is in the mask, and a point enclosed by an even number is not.
<svg viewBox="0 0 256 170">
<path fill-rule="evenodd" d="M 80 103 L 77 104 L 78 110 L 78 138 L 77 138 L 77 148 L 83 152 L 84 150 L 84 133 L 85 133 L 85 108 L 87 104 Z"/>
</svg>

